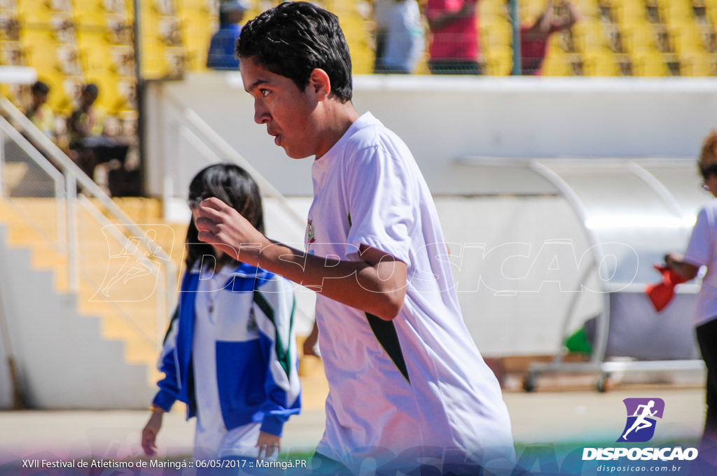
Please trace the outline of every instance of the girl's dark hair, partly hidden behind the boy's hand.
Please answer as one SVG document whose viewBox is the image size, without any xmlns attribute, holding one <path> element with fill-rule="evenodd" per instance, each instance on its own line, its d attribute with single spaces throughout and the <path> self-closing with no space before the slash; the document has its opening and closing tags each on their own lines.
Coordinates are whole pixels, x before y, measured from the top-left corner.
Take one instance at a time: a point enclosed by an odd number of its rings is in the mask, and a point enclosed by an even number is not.
<svg viewBox="0 0 717 476">
<path fill-rule="evenodd" d="M 264 233 L 264 209 L 259 186 L 243 168 L 234 163 L 216 163 L 199 171 L 189 184 L 189 200 L 207 199 L 210 196 L 217 197 L 239 211 L 253 227 Z M 200 242 L 198 235 L 194 220 L 190 220 L 185 241 L 187 254 L 184 262 L 187 270 L 191 270 L 206 254 L 217 257 L 212 245 Z M 218 265 L 232 263 L 237 261 L 226 253 L 217 260 Z"/>
</svg>

